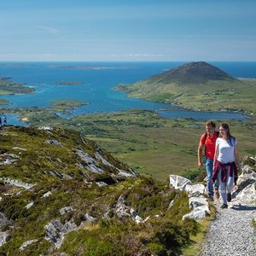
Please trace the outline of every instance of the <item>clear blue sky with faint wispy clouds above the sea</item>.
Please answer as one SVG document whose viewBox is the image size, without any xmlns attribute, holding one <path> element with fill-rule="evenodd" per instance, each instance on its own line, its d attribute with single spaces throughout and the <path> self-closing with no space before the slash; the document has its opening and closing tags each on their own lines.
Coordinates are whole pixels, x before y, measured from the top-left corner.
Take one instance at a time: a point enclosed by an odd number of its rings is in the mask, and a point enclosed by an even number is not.
<svg viewBox="0 0 256 256">
<path fill-rule="evenodd" d="M 0 61 L 256 61 L 255 0 L 6 0 Z"/>
</svg>

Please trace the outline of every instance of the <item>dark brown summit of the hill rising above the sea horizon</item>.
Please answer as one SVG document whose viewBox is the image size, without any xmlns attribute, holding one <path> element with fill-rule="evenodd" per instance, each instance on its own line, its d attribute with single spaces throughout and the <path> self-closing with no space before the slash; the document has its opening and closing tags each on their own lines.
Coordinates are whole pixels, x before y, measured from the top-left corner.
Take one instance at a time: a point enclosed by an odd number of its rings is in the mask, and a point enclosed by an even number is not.
<svg viewBox="0 0 256 256">
<path fill-rule="evenodd" d="M 155 77 L 161 78 L 161 82 L 164 83 L 177 82 L 180 84 L 203 84 L 209 80 L 236 80 L 218 67 L 204 61 L 189 62 Z"/>
</svg>

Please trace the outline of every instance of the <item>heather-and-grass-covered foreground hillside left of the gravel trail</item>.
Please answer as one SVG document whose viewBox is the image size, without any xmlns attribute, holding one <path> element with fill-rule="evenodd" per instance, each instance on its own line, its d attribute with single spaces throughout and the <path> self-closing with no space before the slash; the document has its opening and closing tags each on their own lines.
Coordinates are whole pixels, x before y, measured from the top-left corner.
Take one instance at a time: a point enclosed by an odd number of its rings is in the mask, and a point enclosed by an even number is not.
<svg viewBox="0 0 256 256">
<path fill-rule="evenodd" d="M 177 255 L 199 230 L 194 220 L 182 221 L 189 212 L 187 195 L 151 178 L 122 177 L 117 170 L 135 173 L 74 131 L 5 126 L 0 139 L 0 162 L 15 160 L 0 165 L 0 177 L 34 184 L 27 190 L 0 182 L 0 212 L 11 220 L 1 227 L 9 233 L 1 255 Z M 90 161 L 104 172 L 91 172 L 78 150 L 90 155 Z M 44 197 L 47 192 L 51 195 Z M 143 223 L 137 224 L 129 214 L 119 215 L 120 197 Z M 31 202 L 32 207 L 26 207 Z M 63 207 L 73 210 L 61 214 Z M 66 233 L 60 248 L 45 240 L 45 226 L 56 219 L 77 226 Z M 20 252 L 20 246 L 32 240 Z"/>
</svg>

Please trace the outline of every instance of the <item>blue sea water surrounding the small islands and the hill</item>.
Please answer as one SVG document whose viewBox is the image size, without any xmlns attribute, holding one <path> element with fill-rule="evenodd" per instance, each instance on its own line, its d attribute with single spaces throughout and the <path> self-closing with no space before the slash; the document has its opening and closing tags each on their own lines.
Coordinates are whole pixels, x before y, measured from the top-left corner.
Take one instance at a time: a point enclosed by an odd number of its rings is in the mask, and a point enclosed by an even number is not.
<svg viewBox="0 0 256 256">
<path fill-rule="evenodd" d="M 32 94 L 0 96 L 10 102 L 8 107 L 0 105 L 0 108 L 49 108 L 50 102 L 76 100 L 88 104 L 74 108 L 61 117 L 70 119 L 81 114 L 137 108 L 152 110 L 164 118 L 247 119 L 242 113 L 190 111 L 172 104 L 131 98 L 123 92 L 113 90 L 116 85 L 133 84 L 184 63 L 186 62 L 0 62 L 0 77 L 8 77 L 11 81 L 35 89 Z M 256 61 L 209 63 L 233 77 L 256 79 Z M 65 81 L 79 84 L 60 84 Z M 20 121 L 18 115 L 6 116 L 10 125 L 27 125 Z"/>
</svg>

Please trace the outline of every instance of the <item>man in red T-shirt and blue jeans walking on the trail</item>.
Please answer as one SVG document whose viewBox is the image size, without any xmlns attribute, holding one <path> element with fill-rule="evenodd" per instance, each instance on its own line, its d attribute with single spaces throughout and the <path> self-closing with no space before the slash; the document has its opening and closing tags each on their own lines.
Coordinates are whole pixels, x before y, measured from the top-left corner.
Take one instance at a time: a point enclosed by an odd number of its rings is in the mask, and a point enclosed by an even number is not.
<svg viewBox="0 0 256 256">
<path fill-rule="evenodd" d="M 206 131 L 200 137 L 200 142 L 197 150 L 198 166 L 201 168 L 203 166 L 201 157 L 203 148 L 205 148 L 205 161 L 206 161 L 206 171 L 207 171 L 207 190 L 208 196 L 211 201 L 213 201 L 213 183 L 212 183 L 212 172 L 213 172 L 213 158 L 215 153 L 215 144 L 218 138 L 218 131 L 215 131 L 216 125 L 212 120 L 207 121 Z M 215 196 L 219 198 L 218 192 L 218 180 L 214 183 Z"/>
</svg>

